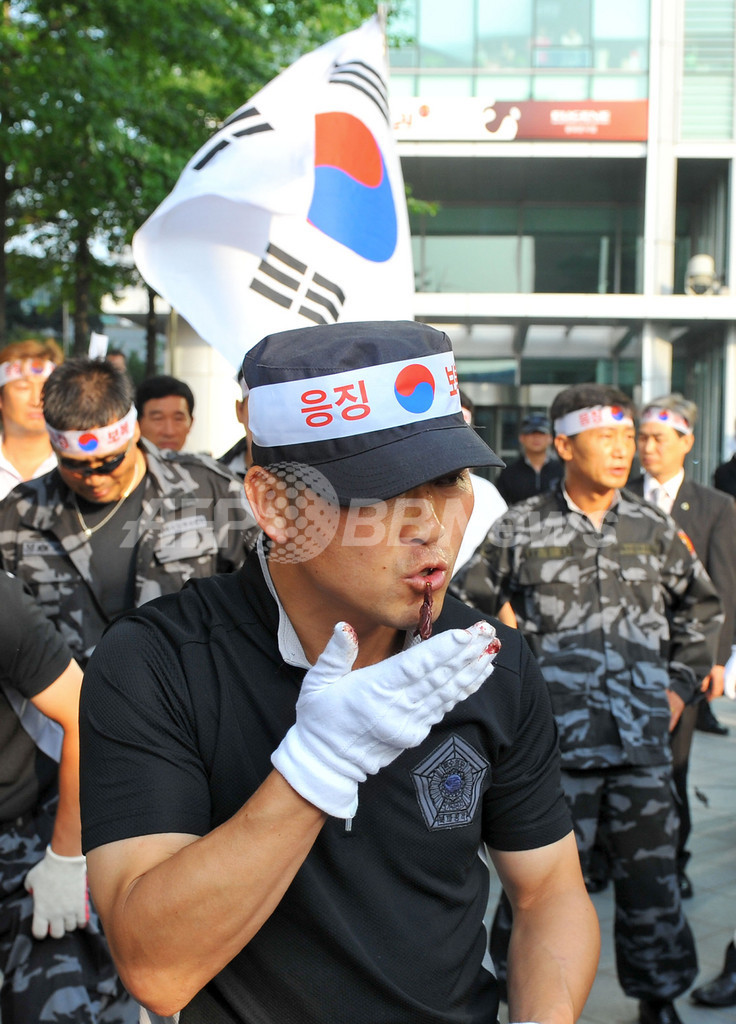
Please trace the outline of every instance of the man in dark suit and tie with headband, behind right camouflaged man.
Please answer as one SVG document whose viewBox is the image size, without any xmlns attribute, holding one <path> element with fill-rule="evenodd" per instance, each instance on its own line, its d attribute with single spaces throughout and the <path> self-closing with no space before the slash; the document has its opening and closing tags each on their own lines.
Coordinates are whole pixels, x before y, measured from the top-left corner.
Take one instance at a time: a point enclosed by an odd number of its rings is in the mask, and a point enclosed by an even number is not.
<svg viewBox="0 0 736 1024">
<path fill-rule="evenodd" d="M 697 406 L 682 394 L 667 394 L 650 401 L 642 411 L 639 428 L 639 460 L 644 475 L 629 484 L 630 490 L 643 495 L 672 515 L 681 532 L 687 535 L 713 582 L 726 614 L 718 664 L 703 681 L 700 699 L 685 709 L 672 733 L 674 778 L 680 798 L 680 889 L 684 897 L 692 895 L 692 885 L 685 873 L 690 858 L 685 849 L 690 834 L 687 792 L 690 746 L 700 709 L 710 712 L 708 700 L 724 690 L 724 666 L 731 653 L 736 606 L 736 506 L 728 495 L 685 476 L 685 457 L 693 446 L 696 419 Z M 712 712 L 710 716 L 716 728 L 711 726 L 707 731 L 728 732 Z"/>
</svg>

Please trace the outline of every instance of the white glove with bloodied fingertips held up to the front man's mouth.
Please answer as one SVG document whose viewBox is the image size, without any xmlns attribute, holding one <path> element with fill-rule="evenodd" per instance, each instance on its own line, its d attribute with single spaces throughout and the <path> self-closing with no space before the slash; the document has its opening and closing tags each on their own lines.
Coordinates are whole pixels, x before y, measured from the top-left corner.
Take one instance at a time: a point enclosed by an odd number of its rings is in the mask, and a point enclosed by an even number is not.
<svg viewBox="0 0 736 1024">
<path fill-rule="evenodd" d="M 273 752 L 274 768 L 328 814 L 350 818 L 358 782 L 410 746 L 492 672 L 499 649 L 486 622 L 447 630 L 393 657 L 351 672 L 355 631 L 338 623 L 309 669 L 297 721 Z"/>
</svg>

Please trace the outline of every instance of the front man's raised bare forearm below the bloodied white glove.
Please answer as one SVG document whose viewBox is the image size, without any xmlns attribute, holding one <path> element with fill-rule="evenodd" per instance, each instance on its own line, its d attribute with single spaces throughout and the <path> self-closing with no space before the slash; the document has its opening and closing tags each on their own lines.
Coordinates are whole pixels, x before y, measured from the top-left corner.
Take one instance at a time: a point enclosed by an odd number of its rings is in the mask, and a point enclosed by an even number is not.
<svg viewBox="0 0 736 1024">
<path fill-rule="evenodd" d="M 90 891 L 131 994 L 162 1016 L 186 1006 L 270 916 L 326 819 L 272 771 L 203 838 L 143 836 L 90 851 Z"/>
</svg>

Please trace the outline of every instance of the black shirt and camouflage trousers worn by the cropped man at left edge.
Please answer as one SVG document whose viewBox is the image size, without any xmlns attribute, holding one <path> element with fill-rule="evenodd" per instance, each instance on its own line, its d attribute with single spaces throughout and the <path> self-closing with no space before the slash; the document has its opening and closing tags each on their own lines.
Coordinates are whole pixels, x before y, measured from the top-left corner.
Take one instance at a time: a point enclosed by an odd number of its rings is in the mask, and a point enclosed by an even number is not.
<svg viewBox="0 0 736 1024">
<path fill-rule="evenodd" d="M 43 859 L 57 805 L 60 726 L 31 702 L 72 659 L 19 581 L 0 572 L 0 1019 L 5 1024 L 133 1024 L 99 922 L 35 939 L 24 881 Z M 33 712 L 33 714 L 30 714 Z M 41 726 L 45 726 L 41 728 Z"/>
</svg>

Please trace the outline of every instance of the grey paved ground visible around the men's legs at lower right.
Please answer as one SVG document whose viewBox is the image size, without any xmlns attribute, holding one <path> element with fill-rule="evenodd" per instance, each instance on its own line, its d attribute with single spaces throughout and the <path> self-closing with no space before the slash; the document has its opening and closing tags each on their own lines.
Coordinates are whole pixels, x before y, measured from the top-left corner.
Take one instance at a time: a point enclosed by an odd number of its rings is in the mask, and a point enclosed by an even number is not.
<svg viewBox="0 0 736 1024">
<path fill-rule="evenodd" d="M 698 947 L 696 986 L 721 973 L 726 945 L 736 928 L 736 701 L 721 698 L 713 710 L 729 726 L 730 734 L 696 732 L 690 761 L 693 835 L 688 873 L 694 896 L 685 906 Z M 698 799 L 696 790 L 707 799 L 707 806 Z M 616 980 L 610 889 L 594 896 L 594 902 L 601 922 L 601 963 L 580 1022 L 634 1024 L 637 1002 L 626 998 Z M 491 905 L 495 905 L 494 893 Z M 687 995 L 676 1006 L 683 1024 L 736 1024 L 736 1007 L 710 1010 L 695 1006 Z M 500 1020 L 505 1024 L 508 1017 Z"/>
</svg>

